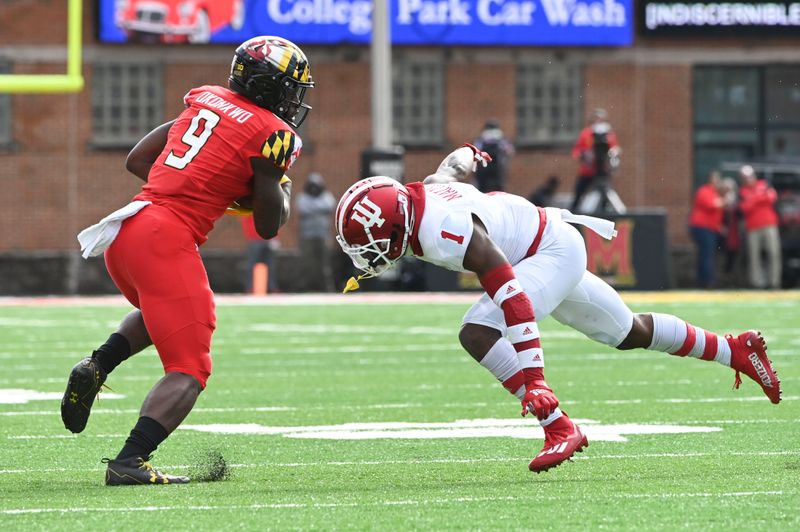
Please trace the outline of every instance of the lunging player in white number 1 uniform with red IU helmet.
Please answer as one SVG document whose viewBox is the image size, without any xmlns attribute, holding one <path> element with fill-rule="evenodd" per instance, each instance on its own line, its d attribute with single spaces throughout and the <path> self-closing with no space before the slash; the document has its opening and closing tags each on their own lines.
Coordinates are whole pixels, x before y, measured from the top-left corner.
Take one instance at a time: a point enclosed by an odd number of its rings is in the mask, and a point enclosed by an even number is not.
<svg viewBox="0 0 800 532">
<path fill-rule="evenodd" d="M 485 293 L 464 316 L 459 340 L 522 402 L 522 415 L 533 413 L 543 426 L 544 447 L 529 464 L 531 471 L 555 467 L 588 445 L 544 378 L 537 321 L 548 315 L 617 349 L 719 362 L 736 371 L 737 388 L 741 372 L 770 401 L 780 402 L 780 381 L 761 333 L 719 336 L 672 315 L 634 314 L 611 286 L 586 270 L 583 238 L 570 225 L 612 238 L 613 223 L 543 209 L 511 194 L 482 194 L 460 182 L 487 158 L 465 144 L 424 182 L 358 181 L 339 201 L 337 241 L 364 272 L 359 278 L 380 275 L 404 255 L 478 276 Z"/>
</svg>

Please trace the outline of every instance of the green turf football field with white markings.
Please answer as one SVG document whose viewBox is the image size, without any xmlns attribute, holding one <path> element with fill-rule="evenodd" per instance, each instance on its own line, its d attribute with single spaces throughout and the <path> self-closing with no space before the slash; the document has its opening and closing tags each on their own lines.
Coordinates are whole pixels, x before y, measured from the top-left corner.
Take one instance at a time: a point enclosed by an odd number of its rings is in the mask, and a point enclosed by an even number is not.
<svg viewBox="0 0 800 532">
<path fill-rule="evenodd" d="M 636 311 L 762 330 L 772 405 L 716 363 L 620 352 L 552 319 L 548 381 L 590 441 L 536 475 L 541 430 L 458 345 L 469 303 L 359 294 L 222 298 L 214 375 L 156 452 L 181 486 L 106 487 L 160 377 L 150 348 L 109 376 L 84 433 L 59 401 L 72 365 L 129 310 L 116 300 L 0 301 L 5 530 L 798 530 L 800 294 L 628 294 Z M 105 396 L 105 398 L 104 398 Z"/>
</svg>

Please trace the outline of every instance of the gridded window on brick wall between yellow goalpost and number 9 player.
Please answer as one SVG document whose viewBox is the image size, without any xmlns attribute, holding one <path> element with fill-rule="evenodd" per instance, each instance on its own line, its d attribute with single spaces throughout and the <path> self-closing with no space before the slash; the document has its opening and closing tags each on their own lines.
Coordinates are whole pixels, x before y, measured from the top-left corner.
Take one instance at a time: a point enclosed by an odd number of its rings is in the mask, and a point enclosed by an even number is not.
<svg viewBox="0 0 800 532">
<path fill-rule="evenodd" d="M 163 84 L 156 63 L 96 63 L 92 69 L 92 143 L 128 147 L 162 122 Z"/>
</svg>

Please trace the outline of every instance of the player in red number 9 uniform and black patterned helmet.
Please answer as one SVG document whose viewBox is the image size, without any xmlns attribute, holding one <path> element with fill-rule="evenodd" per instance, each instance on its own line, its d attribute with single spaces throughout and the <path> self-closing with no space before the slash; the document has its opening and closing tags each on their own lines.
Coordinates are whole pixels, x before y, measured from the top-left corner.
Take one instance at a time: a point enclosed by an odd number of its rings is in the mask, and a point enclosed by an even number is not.
<svg viewBox="0 0 800 532">
<path fill-rule="evenodd" d="M 109 274 L 136 307 L 108 341 L 71 371 L 61 417 L 72 432 L 86 426 L 106 376 L 155 345 L 165 376 L 144 400 L 139 420 L 108 463 L 106 484 L 185 483 L 149 463 L 183 421 L 211 375 L 214 299 L 198 246 L 232 204 L 252 209 L 272 238 L 289 216 L 285 172 L 300 153 L 295 132 L 310 106 L 308 60 L 280 37 L 255 37 L 236 49 L 228 88 L 203 86 L 186 109 L 147 134 L 127 169 L 145 181 L 134 201 L 79 235 L 83 256 L 105 253 Z M 238 204 L 237 204 L 238 205 Z"/>
</svg>

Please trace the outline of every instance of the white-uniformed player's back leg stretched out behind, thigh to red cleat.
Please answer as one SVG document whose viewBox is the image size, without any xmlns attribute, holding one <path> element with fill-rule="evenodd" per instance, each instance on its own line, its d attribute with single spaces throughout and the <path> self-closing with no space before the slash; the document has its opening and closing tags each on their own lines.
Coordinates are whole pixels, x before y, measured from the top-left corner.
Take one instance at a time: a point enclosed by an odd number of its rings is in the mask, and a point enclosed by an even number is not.
<svg viewBox="0 0 800 532">
<path fill-rule="evenodd" d="M 780 401 L 780 382 L 766 356 L 760 333 L 747 331 L 734 338 L 691 325 L 671 314 L 634 314 L 619 294 L 590 272 L 553 311 L 553 317 L 589 338 L 617 349 L 649 349 L 681 357 L 719 362 L 743 372 L 761 385 L 774 403 Z"/>
</svg>

